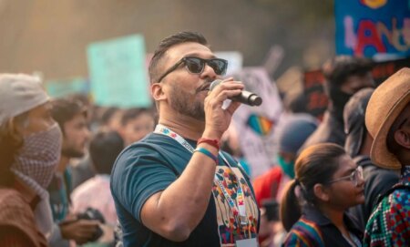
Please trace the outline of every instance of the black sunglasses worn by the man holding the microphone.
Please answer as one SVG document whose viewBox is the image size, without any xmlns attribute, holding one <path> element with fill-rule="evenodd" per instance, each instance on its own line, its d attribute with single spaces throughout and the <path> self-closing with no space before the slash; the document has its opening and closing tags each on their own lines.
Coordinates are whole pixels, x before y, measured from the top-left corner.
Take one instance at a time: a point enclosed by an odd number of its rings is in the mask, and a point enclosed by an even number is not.
<svg viewBox="0 0 410 247">
<path fill-rule="evenodd" d="M 228 67 L 228 61 L 221 58 L 203 59 L 200 57 L 182 57 L 173 67 L 169 67 L 169 69 L 161 77 L 159 77 L 158 81 L 160 82 L 181 64 L 184 64 L 192 74 L 202 73 L 205 64 L 207 64 L 213 69 L 213 71 L 215 71 L 215 74 L 219 76 L 224 75 Z"/>
</svg>

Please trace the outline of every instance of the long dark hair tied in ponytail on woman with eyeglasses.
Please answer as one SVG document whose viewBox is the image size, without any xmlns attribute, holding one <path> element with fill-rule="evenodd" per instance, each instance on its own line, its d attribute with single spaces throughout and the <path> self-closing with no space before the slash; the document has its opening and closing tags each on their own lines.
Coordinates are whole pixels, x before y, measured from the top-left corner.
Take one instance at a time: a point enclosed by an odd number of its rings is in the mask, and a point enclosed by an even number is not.
<svg viewBox="0 0 410 247">
<path fill-rule="evenodd" d="M 346 152 L 333 143 L 322 143 L 304 149 L 295 163 L 295 179 L 285 188 L 281 203 L 281 221 L 290 231 L 292 225 L 301 217 L 301 203 L 317 205 L 313 192 L 315 184 L 325 184 L 332 180 L 334 172 L 339 168 L 339 158 Z M 300 196 L 295 193 L 299 185 Z M 300 201 L 302 199 L 302 201 Z"/>
</svg>

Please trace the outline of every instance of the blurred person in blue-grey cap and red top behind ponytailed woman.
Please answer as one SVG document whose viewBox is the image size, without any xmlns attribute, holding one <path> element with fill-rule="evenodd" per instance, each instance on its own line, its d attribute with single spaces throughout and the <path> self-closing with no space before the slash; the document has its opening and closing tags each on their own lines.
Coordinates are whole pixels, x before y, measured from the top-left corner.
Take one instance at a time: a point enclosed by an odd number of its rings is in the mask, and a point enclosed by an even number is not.
<svg viewBox="0 0 410 247">
<path fill-rule="evenodd" d="M 262 209 L 260 232 L 262 246 L 267 246 L 268 242 L 272 241 L 281 242 L 286 233 L 281 224 L 278 224 L 278 201 L 282 200 L 282 191 L 286 183 L 294 179 L 294 161 L 298 149 L 318 124 L 316 118 L 303 113 L 290 114 L 284 120 L 281 119 L 281 123 L 274 133 L 278 143 L 278 165 L 253 180 L 256 201 Z"/>
</svg>

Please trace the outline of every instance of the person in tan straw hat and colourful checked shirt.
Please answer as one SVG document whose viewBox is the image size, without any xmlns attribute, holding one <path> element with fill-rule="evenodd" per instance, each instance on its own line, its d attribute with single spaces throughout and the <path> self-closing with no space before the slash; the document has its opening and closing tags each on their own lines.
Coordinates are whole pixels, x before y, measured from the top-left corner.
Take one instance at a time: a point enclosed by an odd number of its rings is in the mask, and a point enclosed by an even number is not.
<svg viewBox="0 0 410 247">
<path fill-rule="evenodd" d="M 367 221 L 364 246 L 410 246 L 410 68 L 400 69 L 374 90 L 365 124 L 374 139 L 374 164 L 401 170 L 401 176 Z"/>
</svg>

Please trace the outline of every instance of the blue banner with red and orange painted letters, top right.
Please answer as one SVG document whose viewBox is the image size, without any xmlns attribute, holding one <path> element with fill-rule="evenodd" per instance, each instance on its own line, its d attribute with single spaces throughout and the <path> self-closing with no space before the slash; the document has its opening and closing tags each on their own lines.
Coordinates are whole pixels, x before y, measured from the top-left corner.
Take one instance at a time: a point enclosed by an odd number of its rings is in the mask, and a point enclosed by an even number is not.
<svg viewBox="0 0 410 247">
<path fill-rule="evenodd" d="M 410 55 L 408 0 L 335 0 L 336 53 L 378 60 Z"/>
</svg>

